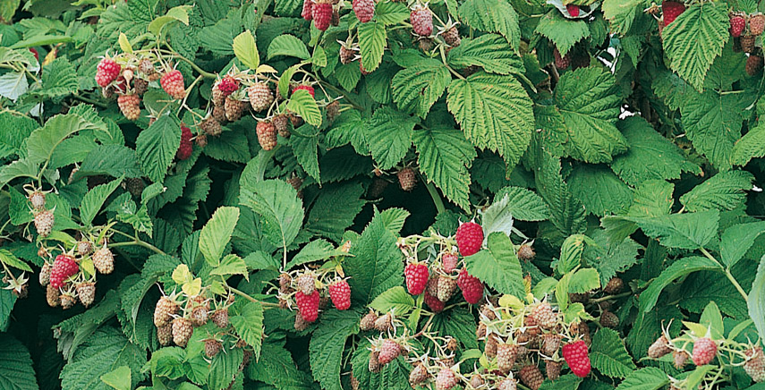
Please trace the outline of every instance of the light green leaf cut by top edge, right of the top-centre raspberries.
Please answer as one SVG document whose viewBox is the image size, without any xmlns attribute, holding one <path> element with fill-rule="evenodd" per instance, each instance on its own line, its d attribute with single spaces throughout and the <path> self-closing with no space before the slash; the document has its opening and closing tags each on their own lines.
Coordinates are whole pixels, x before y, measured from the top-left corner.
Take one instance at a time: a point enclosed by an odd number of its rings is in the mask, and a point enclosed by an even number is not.
<svg viewBox="0 0 765 390">
<path fill-rule="evenodd" d="M 514 50 L 521 48 L 518 14 L 505 0 L 467 0 L 460 5 L 459 13 L 465 24 L 473 29 L 497 32 Z"/>
</svg>

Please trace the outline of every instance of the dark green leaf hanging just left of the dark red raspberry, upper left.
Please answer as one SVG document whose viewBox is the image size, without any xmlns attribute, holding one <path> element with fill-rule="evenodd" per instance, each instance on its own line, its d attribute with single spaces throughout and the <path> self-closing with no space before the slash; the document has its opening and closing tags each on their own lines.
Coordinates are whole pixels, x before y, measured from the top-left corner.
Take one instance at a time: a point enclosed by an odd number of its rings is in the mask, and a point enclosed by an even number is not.
<svg viewBox="0 0 765 390">
<path fill-rule="evenodd" d="M 140 167 L 152 182 L 162 182 L 167 167 L 181 145 L 181 128 L 167 115 L 160 116 L 149 129 L 140 131 L 135 151 Z"/>
</svg>

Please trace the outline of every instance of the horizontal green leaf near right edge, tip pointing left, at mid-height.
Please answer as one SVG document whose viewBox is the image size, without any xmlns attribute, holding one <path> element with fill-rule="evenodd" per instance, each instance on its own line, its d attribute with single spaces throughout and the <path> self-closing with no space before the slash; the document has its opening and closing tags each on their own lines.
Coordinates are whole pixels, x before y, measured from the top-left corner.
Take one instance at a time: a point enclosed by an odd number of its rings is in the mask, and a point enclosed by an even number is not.
<svg viewBox="0 0 765 390">
<path fill-rule="evenodd" d="M 744 202 L 744 191 L 752 190 L 753 180 L 754 176 L 746 171 L 720 172 L 686 192 L 680 203 L 688 211 L 732 210 Z"/>
</svg>

